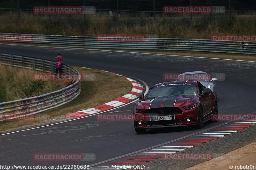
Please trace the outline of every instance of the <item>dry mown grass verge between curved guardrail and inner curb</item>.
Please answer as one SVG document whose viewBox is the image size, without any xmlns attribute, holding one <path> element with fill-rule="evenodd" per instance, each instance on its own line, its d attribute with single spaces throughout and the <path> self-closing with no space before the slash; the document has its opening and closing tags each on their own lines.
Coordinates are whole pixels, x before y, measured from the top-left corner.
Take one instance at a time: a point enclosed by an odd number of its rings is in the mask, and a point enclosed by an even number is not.
<svg viewBox="0 0 256 170">
<path fill-rule="evenodd" d="M 95 107 L 115 100 L 132 90 L 131 83 L 124 77 L 104 71 L 74 67 L 81 74 L 95 74 L 95 81 L 82 81 L 81 93 L 73 101 L 36 115 L 35 121 L 0 122 L 0 131 L 44 123 L 61 115 Z"/>
</svg>

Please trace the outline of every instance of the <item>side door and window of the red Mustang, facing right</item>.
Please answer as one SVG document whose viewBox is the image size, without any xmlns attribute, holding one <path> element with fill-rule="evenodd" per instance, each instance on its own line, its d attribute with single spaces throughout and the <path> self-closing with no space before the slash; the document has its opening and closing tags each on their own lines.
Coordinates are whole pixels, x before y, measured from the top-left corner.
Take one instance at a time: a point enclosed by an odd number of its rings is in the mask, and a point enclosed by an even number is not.
<svg viewBox="0 0 256 170">
<path fill-rule="evenodd" d="M 207 115 L 211 109 L 211 96 L 210 94 L 203 94 L 204 86 L 201 83 L 198 83 L 199 89 L 199 101 L 202 103 L 204 115 Z"/>
</svg>

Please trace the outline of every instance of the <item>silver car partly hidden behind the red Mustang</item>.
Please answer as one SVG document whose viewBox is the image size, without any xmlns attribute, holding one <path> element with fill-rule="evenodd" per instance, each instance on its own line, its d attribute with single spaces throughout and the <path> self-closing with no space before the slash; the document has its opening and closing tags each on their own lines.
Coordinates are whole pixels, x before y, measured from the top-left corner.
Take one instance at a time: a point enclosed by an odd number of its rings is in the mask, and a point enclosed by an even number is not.
<svg viewBox="0 0 256 170">
<path fill-rule="evenodd" d="M 216 83 L 215 83 L 215 81 L 217 81 L 217 78 L 211 79 L 211 76 L 204 71 L 192 71 L 192 72 L 185 72 L 180 74 L 177 77 L 176 81 L 186 81 L 186 80 L 201 82 L 201 84 L 204 85 L 204 87 L 211 89 L 215 97 L 217 98 Z"/>
</svg>

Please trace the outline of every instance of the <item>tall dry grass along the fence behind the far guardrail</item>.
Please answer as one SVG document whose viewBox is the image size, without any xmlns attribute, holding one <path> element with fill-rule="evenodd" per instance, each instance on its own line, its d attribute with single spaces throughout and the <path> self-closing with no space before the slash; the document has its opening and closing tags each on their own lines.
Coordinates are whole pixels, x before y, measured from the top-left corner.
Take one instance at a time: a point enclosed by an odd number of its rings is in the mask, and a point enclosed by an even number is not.
<svg viewBox="0 0 256 170">
<path fill-rule="evenodd" d="M 122 14 L 120 27 L 117 27 L 116 17 L 104 13 L 86 15 L 86 26 L 81 14 L 51 15 L 49 25 L 47 14 L 22 12 L 20 25 L 17 15 L 9 12 L 0 15 L 0 32 L 28 34 L 56 34 L 95 36 L 97 34 L 158 34 L 161 38 L 195 38 L 210 39 L 212 34 L 255 34 L 256 15 L 232 15 L 232 22 L 226 14 L 177 15 L 157 17 L 132 18 Z"/>
</svg>

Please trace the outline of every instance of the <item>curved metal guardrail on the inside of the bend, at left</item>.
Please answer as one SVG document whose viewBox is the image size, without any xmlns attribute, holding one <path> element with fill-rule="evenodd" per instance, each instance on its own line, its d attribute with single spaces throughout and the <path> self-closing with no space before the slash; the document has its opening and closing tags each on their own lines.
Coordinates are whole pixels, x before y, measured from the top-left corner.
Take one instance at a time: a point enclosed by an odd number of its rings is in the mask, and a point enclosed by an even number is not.
<svg viewBox="0 0 256 170">
<path fill-rule="evenodd" d="M 48 73 L 53 73 L 55 66 L 53 61 L 6 53 L 0 53 L 0 64 Z M 63 64 L 63 67 L 65 73 L 79 74 L 77 70 L 68 65 Z M 73 81 L 71 85 L 54 92 L 0 103 L 0 121 L 19 120 L 22 117 L 61 106 L 75 99 L 80 92 L 80 81 Z"/>
</svg>

